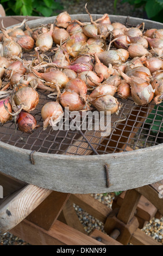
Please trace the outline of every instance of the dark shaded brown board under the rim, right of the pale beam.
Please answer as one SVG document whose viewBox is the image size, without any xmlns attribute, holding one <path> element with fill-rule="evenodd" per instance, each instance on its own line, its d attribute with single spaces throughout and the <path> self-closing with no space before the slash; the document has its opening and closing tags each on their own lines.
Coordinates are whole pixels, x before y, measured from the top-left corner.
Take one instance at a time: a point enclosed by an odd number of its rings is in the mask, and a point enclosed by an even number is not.
<svg viewBox="0 0 163 256">
<path fill-rule="evenodd" d="M 70 194 L 52 191 L 28 216 L 27 220 L 49 230 L 64 208 Z"/>
</svg>

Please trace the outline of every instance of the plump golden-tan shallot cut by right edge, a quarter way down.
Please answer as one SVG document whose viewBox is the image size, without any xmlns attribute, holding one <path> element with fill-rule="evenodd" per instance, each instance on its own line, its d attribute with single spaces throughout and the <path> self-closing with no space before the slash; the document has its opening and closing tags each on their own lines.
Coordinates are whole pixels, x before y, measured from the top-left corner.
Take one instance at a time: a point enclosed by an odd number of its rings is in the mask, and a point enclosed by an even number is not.
<svg viewBox="0 0 163 256">
<path fill-rule="evenodd" d="M 160 58 L 148 58 L 145 60 L 144 65 L 151 71 L 151 73 L 163 69 L 163 60 Z"/>
</svg>

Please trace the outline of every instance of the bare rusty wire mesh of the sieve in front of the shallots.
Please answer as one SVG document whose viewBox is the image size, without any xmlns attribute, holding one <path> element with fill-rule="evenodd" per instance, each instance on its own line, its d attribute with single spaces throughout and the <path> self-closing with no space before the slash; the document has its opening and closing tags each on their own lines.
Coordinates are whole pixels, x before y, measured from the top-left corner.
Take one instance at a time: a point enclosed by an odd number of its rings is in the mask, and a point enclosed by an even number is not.
<svg viewBox="0 0 163 256">
<path fill-rule="evenodd" d="M 129 24 L 126 24 L 129 26 Z M 53 45 L 55 47 L 55 45 Z M 24 54 L 24 59 L 32 59 L 32 53 Z M 49 52 L 51 57 L 54 53 Z M 14 121 L 0 124 L 0 141 L 18 148 L 48 154 L 90 155 L 111 154 L 128 150 L 151 147 L 163 141 L 163 106 L 152 101 L 147 106 L 136 106 L 134 101 L 120 99 L 121 109 L 118 115 L 111 115 L 111 132 L 102 136 L 101 130 L 53 130 L 48 126 L 43 131 L 41 109 L 49 99 L 49 92 L 38 90 L 39 104 L 31 112 L 39 128 L 32 134 L 16 130 Z M 92 108 L 92 111 L 95 109 Z M 72 120 L 70 119 L 70 122 Z"/>
</svg>

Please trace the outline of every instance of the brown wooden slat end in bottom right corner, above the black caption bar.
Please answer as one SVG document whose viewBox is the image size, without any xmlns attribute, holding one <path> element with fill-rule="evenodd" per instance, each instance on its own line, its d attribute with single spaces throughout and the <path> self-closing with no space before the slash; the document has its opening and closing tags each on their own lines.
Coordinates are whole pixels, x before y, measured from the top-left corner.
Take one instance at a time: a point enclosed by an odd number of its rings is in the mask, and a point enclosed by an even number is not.
<svg viewBox="0 0 163 256">
<path fill-rule="evenodd" d="M 161 245 L 155 241 L 151 236 L 145 234 L 144 231 L 137 229 L 131 236 L 130 243 L 133 245 Z"/>
</svg>

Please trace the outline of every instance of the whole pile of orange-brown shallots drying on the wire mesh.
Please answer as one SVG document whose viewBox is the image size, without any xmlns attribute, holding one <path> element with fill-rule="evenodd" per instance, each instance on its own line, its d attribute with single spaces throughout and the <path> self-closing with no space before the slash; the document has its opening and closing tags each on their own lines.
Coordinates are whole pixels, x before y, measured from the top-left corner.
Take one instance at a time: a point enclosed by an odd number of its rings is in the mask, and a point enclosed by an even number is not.
<svg viewBox="0 0 163 256">
<path fill-rule="evenodd" d="M 93 21 L 85 9 L 90 22 L 72 20 L 65 11 L 53 24 L 30 29 L 24 20 L 1 29 L 1 124 L 12 119 L 19 130 L 32 133 L 38 125 L 31 112 L 45 90 L 44 130 L 59 122 L 65 107 L 118 114 L 120 98 L 139 106 L 162 102 L 163 29 L 145 31 L 145 23 L 128 28 L 111 22 L 108 14 Z"/>
</svg>

